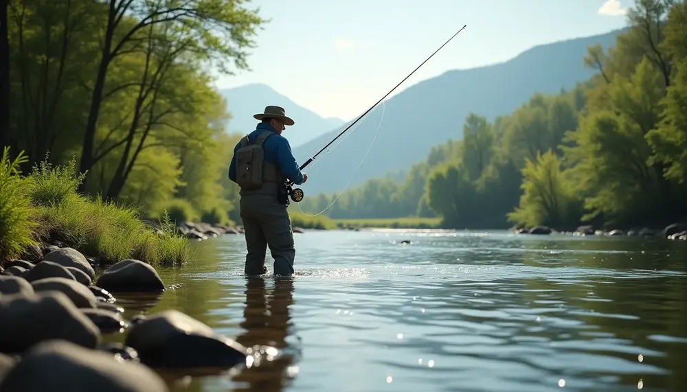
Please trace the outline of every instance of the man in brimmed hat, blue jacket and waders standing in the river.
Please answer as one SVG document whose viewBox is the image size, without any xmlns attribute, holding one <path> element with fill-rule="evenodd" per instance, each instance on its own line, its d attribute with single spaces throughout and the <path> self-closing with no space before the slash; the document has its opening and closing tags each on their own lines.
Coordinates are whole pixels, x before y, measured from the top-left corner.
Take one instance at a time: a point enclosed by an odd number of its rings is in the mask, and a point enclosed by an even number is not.
<svg viewBox="0 0 687 392">
<path fill-rule="evenodd" d="M 274 275 L 291 275 L 295 248 L 285 183 L 300 185 L 308 176 L 298 168 L 289 141 L 282 136 L 284 126 L 294 124 L 284 108 L 267 106 L 253 117 L 260 123 L 236 143 L 229 165 L 229 179 L 241 188 L 240 215 L 248 249 L 244 273 L 267 273 L 264 259 L 269 245 Z"/>
</svg>

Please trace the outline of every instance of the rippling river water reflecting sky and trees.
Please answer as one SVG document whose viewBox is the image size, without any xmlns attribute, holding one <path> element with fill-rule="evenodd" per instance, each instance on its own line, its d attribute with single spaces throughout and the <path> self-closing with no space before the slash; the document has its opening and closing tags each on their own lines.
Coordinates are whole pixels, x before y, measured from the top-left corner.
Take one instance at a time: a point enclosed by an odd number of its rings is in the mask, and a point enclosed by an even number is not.
<svg viewBox="0 0 687 392">
<path fill-rule="evenodd" d="M 505 231 L 295 242 L 293 279 L 247 281 L 243 236 L 225 235 L 160 270 L 177 288 L 120 300 L 127 316 L 174 308 L 281 350 L 173 391 L 687 391 L 685 242 Z"/>
</svg>

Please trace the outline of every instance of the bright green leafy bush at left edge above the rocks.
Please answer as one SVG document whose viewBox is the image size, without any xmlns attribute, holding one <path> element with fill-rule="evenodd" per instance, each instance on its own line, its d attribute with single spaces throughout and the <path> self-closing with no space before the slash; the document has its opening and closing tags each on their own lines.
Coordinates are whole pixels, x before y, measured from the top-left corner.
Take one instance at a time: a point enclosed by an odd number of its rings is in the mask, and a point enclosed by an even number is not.
<svg viewBox="0 0 687 392">
<path fill-rule="evenodd" d="M 38 222 L 34 220 L 31 201 L 23 192 L 25 181 L 19 176 L 19 165 L 27 157 L 20 153 L 10 159 L 10 148 L 3 148 L 0 159 L 0 264 L 19 257 L 26 247 L 36 244 L 33 238 Z"/>
</svg>

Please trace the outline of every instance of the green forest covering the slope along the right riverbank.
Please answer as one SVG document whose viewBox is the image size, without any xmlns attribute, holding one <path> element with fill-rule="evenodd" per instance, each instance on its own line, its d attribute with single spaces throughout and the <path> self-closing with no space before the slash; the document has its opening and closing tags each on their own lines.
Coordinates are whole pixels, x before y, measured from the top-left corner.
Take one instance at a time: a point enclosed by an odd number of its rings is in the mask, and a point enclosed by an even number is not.
<svg viewBox="0 0 687 392">
<path fill-rule="evenodd" d="M 332 218 L 443 218 L 451 228 L 660 227 L 687 213 L 687 5 L 638 0 L 616 45 L 581 58 L 594 76 L 535 94 L 461 140 L 432 148 L 404 181 L 341 194 Z M 343 174 L 344 176 L 346 174 Z M 325 209 L 337 194 L 306 196 Z"/>
</svg>

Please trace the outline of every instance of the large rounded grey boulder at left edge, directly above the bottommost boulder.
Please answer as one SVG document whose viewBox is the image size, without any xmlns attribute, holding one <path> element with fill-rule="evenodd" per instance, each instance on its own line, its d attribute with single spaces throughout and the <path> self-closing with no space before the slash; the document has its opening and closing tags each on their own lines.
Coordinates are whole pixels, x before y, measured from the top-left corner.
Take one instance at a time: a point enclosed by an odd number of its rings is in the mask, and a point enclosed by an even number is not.
<svg viewBox="0 0 687 392">
<path fill-rule="evenodd" d="M 3 295 L 0 320 L 0 351 L 6 354 L 21 353 L 52 339 L 91 349 L 100 343 L 98 327 L 61 292 Z"/>
</svg>

